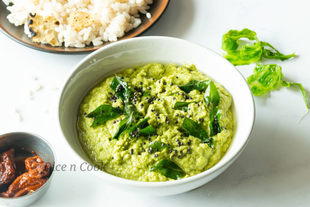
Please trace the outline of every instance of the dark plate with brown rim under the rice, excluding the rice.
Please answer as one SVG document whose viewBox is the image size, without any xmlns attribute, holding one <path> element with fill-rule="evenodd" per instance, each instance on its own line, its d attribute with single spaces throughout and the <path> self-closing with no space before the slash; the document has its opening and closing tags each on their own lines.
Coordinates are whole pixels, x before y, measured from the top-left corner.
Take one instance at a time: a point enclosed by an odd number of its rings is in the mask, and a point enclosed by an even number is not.
<svg viewBox="0 0 310 207">
<path fill-rule="evenodd" d="M 142 23 L 135 29 L 130 30 L 125 33 L 125 35 L 121 38 L 117 38 L 118 40 L 128 39 L 137 37 L 143 34 L 146 30 L 148 30 L 152 25 L 154 25 L 157 20 L 163 15 L 166 10 L 170 0 L 155 0 L 152 4 L 150 4 L 150 9 L 148 12 L 151 13 L 152 18 L 148 19 L 146 15 L 140 15 Z M 31 38 L 29 38 L 24 33 L 24 25 L 16 27 L 14 24 L 11 24 L 7 20 L 7 15 L 10 14 L 10 11 L 7 10 L 7 6 L 0 0 L 0 30 L 7 37 L 11 38 L 15 42 L 18 42 L 24 46 L 40 50 L 43 52 L 51 52 L 51 53 L 65 53 L 65 54 L 75 54 L 75 53 L 89 53 L 108 45 L 111 42 L 104 42 L 100 46 L 89 45 L 83 48 L 76 47 L 53 47 L 48 44 L 41 43 L 33 43 Z"/>
</svg>

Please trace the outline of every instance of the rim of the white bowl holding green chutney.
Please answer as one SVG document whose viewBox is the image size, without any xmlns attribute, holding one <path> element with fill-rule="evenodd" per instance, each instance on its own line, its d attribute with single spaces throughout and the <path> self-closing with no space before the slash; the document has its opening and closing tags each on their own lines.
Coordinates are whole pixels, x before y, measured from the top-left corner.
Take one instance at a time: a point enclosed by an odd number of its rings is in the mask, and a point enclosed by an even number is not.
<svg viewBox="0 0 310 207">
<path fill-rule="evenodd" d="M 204 47 L 204 46 L 202 46 L 200 44 L 197 44 L 197 43 L 194 43 L 194 42 L 191 42 L 191 41 L 187 41 L 187 40 L 184 40 L 184 39 L 180 39 L 180 38 L 174 38 L 174 37 L 145 36 L 145 37 L 130 38 L 130 39 L 125 39 L 125 40 L 121 40 L 121 41 L 118 41 L 118 42 L 111 43 L 109 45 L 106 45 L 106 46 L 96 50 L 95 52 L 92 52 L 91 54 L 89 54 L 86 57 L 84 57 L 80 62 L 78 62 L 78 64 L 75 65 L 73 67 L 73 69 L 69 72 L 69 74 L 65 77 L 64 82 L 62 83 L 62 85 L 60 87 L 60 90 L 59 90 L 59 93 L 58 93 L 58 98 L 56 99 L 56 101 L 57 101 L 56 107 L 55 107 L 56 127 L 60 131 L 60 135 L 62 136 L 63 144 L 68 148 L 71 156 L 73 156 L 73 158 L 76 161 L 78 161 L 78 163 L 86 162 L 87 164 L 91 164 L 91 163 L 88 163 L 86 160 L 84 160 L 79 154 L 75 153 L 75 151 L 72 149 L 72 147 L 68 143 L 66 137 L 64 136 L 64 133 L 63 133 L 63 131 L 61 129 L 61 124 L 60 124 L 60 122 L 61 122 L 61 120 L 60 120 L 61 108 L 60 107 L 61 107 L 61 103 L 62 103 L 62 97 L 63 97 L 63 94 L 65 92 L 66 87 L 68 86 L 68 84 L 71 81 L 71 78 L 73 78 L 73 75 L 76 72 L 83 70 L 83 69 L 80 69 L 80 66 L 84 62 L 86 62 L 86 61 L 90 62 L 91 60 L 93 60 L 93 56 L 97 55 L 98 53 L 100 53 L 103 50 L 107 50 L 107 49 L 109 49 L 111 47 L 115 47 L 115 46 L 118 46 L 118 45 L 121 45 L 121 44 L 127 43 L 127 42 L 146 41 L 146 40 L 154 40 L 154 39 L 157 39 L 157 40 L 165 39 L 165 40 L 170 40 L 170 41 L 178 41 L 180 44 L 182 44 L 182 43 L 194 44 L 197 47 L 201 47 L 201 49 L 209 50 L 211 53 L 214 53 L 215 56 L 220 56 L 223 61 L 227 61 L 231 65 L 232 69 L 237 70 L 237 68 L 234 65 L 232 65 L 223 56 L 221 56 L 220 54 L 214 52 L 213 50 L 211 50 L 211 49 L 209 49 L 207 47 Z M 220 163 L 220 164 L 218 162 L 214 166 L 212 166 L 210 169 L 207 169 L 206 171 L 201 172 L 201 173 L 199 173 L 197 175 L 193 175 L 191 177 L 184 178 L 184 179 L 172 180 L 172 181 L 168 181 L 168 182 L 165 182 L 165 181 L 164 182 L 144 182 L 144 181 L 129 180 L 129 179 L 126 179 L 126 178 L 120 178 L 120 177 L 114 176 L 112 174 L 106 173 L 106 172 L 101 171 L 101 170 L 98 170 L 98 171 L 93 171 L 92 170 L 92 171 L 90 171 L 90 173 L 95 175 L 95 176 L 97 176 L 97 177 L 103 178 L 104 180 L 108 180 L 109 182 L 117 182 L 117 183 L 121 183 L 121 184 L 124 184 L 124 185 L 127 185 L 127 186 L 135 186 L 135 187 L 166 187 L 166 186 L 176 186 L 176 185 L 181 185 L 181 184 L 188 183 L 188 182 L 193 182 L 193 181 L 196 181 L 196 180 L 201 179 L 203 177 L 209 176 L 209 175 L 215 173 L 216 171 L 220 171 L 223 168 L 225 169 L 225 167 L 227 168 L 241 154 L 241 152 L 245 148 L 245 146 L 248 143 L 248 141 L 250 139 L 250 136 L 252 134 L 253 127 L 254 127 L 254 122 L 255 122 L 255 103 L 254 103 L 253 94 L 252 94 L 252 92 L 250 90 L 249 85 L 246 82 L 246 79 L 243 77 L 243 75 L 240 73 L 239 70 L 237 70 L 237 75 L 242 80 L 244 80 L 246 85 L 247 85 L 247 94 L 246 94 L 246 96 L 249 97 L 249 101 L 252 103 L 252 111 L 250 111 L 248 113 L 248 115 L 249 115 L 249 121 L 251 121 L 252 124 L 251 124 L 251 127 L 248 129 L 248 132 L 246 133 L 248 135 L 247 135 L 247 138 L 246 138 L 245 142 L 242 143 L 242 145 L 239 147 L 239 149 L 236 152 L 234 152 L 234 154 L 231 155 L 231 157 L 229 157 L 227 161 L 225 161 L 223 163 Z M 100 174 L 99 174 L 99 172 L 100 172 Z"/>
</svg>

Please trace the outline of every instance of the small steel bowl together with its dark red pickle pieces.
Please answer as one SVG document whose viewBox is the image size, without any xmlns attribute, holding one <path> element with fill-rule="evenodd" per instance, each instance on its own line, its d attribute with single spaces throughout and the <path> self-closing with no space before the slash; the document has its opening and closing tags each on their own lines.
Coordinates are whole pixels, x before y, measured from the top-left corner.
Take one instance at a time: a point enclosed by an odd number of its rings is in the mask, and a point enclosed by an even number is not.
<svg viewBox="0 0 310 207">
<path fill-rule="evenodd" d="M 54 175 L 52 146 L 33 133 L 12 132 L 0 135 L 0 154 L 0 205 L 26 206 L 40 199 Z"/>
</svg>

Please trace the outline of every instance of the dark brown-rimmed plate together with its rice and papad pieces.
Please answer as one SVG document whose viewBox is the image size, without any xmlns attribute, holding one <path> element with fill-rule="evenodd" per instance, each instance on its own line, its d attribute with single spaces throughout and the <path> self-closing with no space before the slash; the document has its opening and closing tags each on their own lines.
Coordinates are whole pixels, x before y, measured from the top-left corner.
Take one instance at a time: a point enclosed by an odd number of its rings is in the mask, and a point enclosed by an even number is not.
<svg viewBox="0 0 310 207">
<path fill-rule="evenodd" d="M 137 37 L 169 0 L 0 0 L 0 30 L 43 52 L 86 53 Z"/>
</svg>

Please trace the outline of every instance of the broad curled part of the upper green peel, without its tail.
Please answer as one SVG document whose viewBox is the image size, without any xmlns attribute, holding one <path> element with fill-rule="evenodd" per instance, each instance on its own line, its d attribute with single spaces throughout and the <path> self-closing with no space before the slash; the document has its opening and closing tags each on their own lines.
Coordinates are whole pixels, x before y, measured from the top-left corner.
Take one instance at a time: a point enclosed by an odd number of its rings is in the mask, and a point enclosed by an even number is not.
<svg viewBox="0 0 310 207">
<path fill-rule="evenodd" d="M 238 50 L 240 38 L 256 40 L 256 43 L 243 45 Z M 223 35 L 221 48 L 227 52 L 223 56 L 233 65 L 248 65 L 257 62 L 263 53 L 263 47 L 260 45 L 256 33 L 250 29 L 229 30 Z"/>
</svg>

